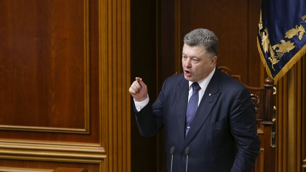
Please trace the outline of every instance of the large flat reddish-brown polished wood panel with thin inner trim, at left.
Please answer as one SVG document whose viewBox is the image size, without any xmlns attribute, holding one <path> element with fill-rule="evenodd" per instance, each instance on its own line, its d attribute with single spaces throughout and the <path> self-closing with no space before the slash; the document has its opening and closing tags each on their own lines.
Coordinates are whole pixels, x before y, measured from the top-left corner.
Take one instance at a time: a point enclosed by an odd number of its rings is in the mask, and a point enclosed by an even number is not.
<svg viewBox="0 0 306 172">
<path fill-rule="evenodd" d="M 88 131 L 86 4 L 2 1 L 0 128 Z"/>
</svg>

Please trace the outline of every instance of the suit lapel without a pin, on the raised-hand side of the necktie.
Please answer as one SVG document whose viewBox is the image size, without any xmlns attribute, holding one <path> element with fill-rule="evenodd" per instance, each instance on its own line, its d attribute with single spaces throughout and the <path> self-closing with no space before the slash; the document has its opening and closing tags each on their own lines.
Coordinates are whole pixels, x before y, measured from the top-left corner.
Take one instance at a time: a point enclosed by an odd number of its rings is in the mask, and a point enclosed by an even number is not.
<svg viewBox="0 0 306 172">
<path fill-rule="evenodd" d="M 178 143 L 183 143 L 185 138 L 185 118 L 188 101 L 188 91 L 189 84 L 188 81 L 184 79 L 184 81 L 182 81 L 182 85 L 180 85 L 176 89 L 176 94 L 179 95 L 176 102 L 176 119 L 180 136 L 180 141 Z"/>
</svg>

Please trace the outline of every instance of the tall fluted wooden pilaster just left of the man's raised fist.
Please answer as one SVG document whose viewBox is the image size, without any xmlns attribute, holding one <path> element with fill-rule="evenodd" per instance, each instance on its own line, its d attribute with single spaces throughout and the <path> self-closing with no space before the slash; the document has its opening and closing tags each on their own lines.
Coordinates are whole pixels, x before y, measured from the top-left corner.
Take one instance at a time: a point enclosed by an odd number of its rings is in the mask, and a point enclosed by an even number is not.
<svg viewBox="0 0 306 172">
<path fill-rule="evenodd" d="M 101 97 L 107 107 L 105 171 L 131 171 L 130 162 L 130 2 L 100 0 L 101 3 Z M 105 15 L 105 16 L 104 16 Z M 104 30 L 105 28 L 105 30 Z M 103 83 L 106 82 L 106 83 Z M 105 94 L 104 94 L 105 93 Z M 104 94 L 104 95 L 103 95 Z M 101 132 L 105 133 L 105 132 Z"/>
</svg>

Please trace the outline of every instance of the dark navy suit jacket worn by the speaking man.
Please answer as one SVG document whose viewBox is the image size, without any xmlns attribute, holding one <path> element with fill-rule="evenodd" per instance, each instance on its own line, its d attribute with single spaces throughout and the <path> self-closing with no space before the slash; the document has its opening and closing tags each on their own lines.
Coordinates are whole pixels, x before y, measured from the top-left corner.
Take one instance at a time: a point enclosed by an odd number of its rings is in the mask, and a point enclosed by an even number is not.
<svg viewBox="0 0 306 172">
<path fill-rule="evenodd" d="M 136 121 L 143 136 L 165 129 L 167 170 L 175 147 L 172 171 L 252 171 L 260 149 L 256 116 L 249 91 L 238 81 L 216 71 L 200 101 L 185 138 L 189 84 L 183 74 L 167 78 L 159 97 L 140 112 Z"/>
</svg>

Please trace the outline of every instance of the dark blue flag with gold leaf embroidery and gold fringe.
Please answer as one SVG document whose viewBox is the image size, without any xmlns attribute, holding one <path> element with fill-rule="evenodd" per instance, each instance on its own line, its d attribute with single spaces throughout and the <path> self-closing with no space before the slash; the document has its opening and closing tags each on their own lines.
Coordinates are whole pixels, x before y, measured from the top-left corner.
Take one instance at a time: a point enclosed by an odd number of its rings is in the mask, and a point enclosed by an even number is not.
<svg viewBox="0 0 306 172">
<path fill-rule="evenodd" d="M 257 46 L 276 83 L 306 52 L 306 0 L 262 0 Z"/>
</svg>

